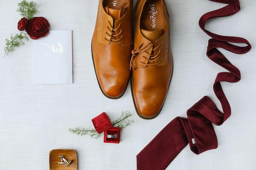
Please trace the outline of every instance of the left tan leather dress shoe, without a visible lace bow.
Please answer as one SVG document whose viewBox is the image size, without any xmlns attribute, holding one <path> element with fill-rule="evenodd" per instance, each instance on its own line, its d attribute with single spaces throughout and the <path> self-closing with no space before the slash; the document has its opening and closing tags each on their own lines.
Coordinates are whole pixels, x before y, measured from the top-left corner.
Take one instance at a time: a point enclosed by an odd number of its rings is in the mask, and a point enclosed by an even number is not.
<svg viewBox="0 0 256 170">
<path fill-rule="evenodd" d="M 99 0 L 93 63 L 103 94 L 112 99 L 122 96 L 130 78 L 132 9 L 133 0 Z"/>
</svg>

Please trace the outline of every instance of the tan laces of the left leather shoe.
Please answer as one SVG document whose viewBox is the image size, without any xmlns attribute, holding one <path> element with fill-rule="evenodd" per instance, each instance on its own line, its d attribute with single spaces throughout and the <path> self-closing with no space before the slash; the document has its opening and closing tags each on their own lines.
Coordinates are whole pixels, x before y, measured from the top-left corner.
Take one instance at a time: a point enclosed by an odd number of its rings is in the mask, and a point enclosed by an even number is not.
<svg viewBox="0 0 256 170">
<path fill-rule="evenodd" d="M 121 16 L 121 11 L 122 11 L 122 8 L 119 10 L 119 17 L 118 17 L 118 18 L 120 18 L 120 16 Z M 107 7 L 107 13 L 108 13 L 108 7 Z M 119 40 L 122 40 L 122 38 L 123 38 L 123 35 L 121 35 L 121 34 L 122 34 L 122 29 L 120 29 L 120 27 L 121 27 L 121 23 L 119 23 L 119 25 L 118 25 L 116 28 L 114 28 L 113 26 L 111 26 L 111 23 L 110 23 L 110 21 L 108 20 L 108 26 L 107 26 L 107 28 L 108 28 L 108 30 L 111 32 L 111 34 L 109 34 L 109 33 L 106 31 L 105 33 L 106 33 L 106 35 L 107 35 L 108 37 L 110 37 L 110 40 L 108 40 L 106 37 L 105 37 L 105 40 L 107 40 L 108 42 L 115 43 L 115 44 L 122 44 L 124 41 L 119 42 Z M 116 32 L 117 32 L 119 29 L 120 29 L 119 33 L 116 34 Z M 117 38 L 119 35 L 121 35 L 121 37 Z"/>
</svg>

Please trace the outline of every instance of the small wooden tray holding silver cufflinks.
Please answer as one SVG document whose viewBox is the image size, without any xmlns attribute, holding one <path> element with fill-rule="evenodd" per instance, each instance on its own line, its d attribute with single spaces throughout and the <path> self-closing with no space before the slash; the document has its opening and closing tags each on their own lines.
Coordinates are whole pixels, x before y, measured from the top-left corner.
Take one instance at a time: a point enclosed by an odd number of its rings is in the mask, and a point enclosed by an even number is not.
<svg viewBox="0 0 256 170">
<path fill-rule="evenodd" d="M 65 156 L 67 161 L 72 163 L 66 167 L 66 164 L 58 164 L 61 159 L 58 157 L 60 155 Z M 49 155 L 50 170 L 77 170 L 77 154 L 76 150 L 64 150 L 64 149 L 55 149 L 50 151 Z"/>
</svg>

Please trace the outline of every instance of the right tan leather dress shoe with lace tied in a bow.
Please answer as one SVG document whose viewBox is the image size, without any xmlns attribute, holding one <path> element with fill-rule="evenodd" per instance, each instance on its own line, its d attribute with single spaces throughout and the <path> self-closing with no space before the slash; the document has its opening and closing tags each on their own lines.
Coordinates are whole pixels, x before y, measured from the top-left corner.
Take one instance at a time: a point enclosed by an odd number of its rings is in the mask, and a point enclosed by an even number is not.
<svg viewBox="0 0 256 170">
<path fill-rule="evenodd" d="M 145 119 L 156 117 L 166 99 L 173 69 L 169 35 L 164 0 L 138 0 L 131 89 L 137 112 Z"/>
</svg>

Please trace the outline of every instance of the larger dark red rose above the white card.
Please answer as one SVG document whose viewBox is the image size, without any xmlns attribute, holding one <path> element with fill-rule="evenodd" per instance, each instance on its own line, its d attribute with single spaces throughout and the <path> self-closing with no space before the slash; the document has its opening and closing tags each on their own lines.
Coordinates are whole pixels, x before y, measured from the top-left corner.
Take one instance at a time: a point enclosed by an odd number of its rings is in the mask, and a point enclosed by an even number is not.
<svg viewBox="0 0 256 170">
<path fill-rule="evenodd" d="M 48 21 L 44 17 L 33 17 L 31 20 L 28 20 L 26 32 L 30 38 L 36 40 L 48 34 L 49 26 Z"/>
</svg>

